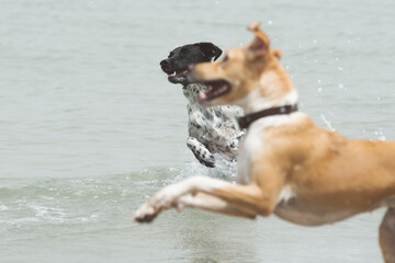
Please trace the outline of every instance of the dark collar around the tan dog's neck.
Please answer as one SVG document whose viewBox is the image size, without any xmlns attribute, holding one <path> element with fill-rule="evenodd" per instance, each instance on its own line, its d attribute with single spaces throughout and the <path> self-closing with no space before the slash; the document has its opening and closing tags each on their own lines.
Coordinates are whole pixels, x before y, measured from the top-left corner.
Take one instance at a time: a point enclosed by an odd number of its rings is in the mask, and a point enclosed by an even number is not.
<svg viewBox="0 0 395 263">
<path fill-rule="evenodd" d="M 248 128 L 248 126 L 250 126 L 251 123 L 253 123 L 259 118 L 268 117 L 272 115 L 291 114 L 296 111 L 297 111 L 297 104 L 271 107 L 239 117 L 237 118 L 237 122 L 239 124 L 240 129 L 244 129 L 244 128 Z"/>
</svg>

